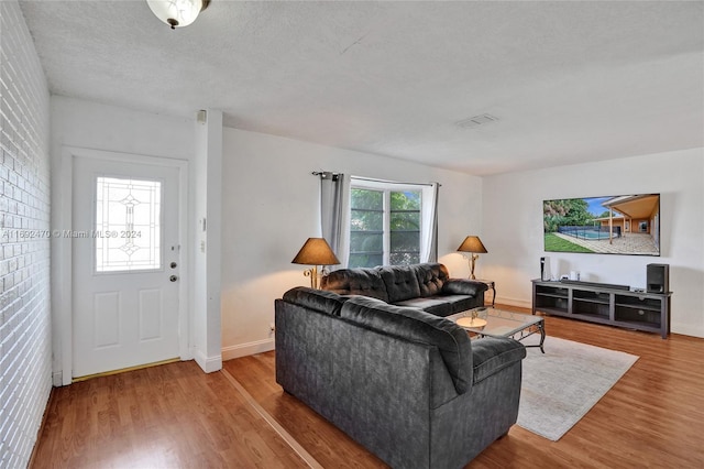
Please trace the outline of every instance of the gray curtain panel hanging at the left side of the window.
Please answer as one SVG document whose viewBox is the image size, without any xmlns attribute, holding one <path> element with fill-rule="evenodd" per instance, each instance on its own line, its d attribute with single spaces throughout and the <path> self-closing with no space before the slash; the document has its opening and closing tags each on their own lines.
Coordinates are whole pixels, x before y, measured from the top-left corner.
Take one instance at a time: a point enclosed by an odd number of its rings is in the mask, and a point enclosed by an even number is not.
<svg viewBox="0 0 704 469">
<path fill-rule="evenodd" d="M 344 203 L 344 175 L 323 171 L 320 176 L 320 222 L 322 237 L 332 252 L 342 260 L 342 219 Z"/>
</svg>

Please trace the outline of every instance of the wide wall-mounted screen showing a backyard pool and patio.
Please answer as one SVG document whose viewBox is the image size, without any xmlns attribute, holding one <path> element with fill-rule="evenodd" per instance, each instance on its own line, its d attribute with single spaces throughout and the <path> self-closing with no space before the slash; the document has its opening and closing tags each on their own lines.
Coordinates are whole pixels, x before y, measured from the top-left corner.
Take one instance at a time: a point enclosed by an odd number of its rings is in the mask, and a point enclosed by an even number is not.
<svg viewBox="0 0 704 469">
<path fill-rule="evenodd" d="M 660 194 L 542 201 L 546 252 L 660 255 Z"/>
</svg>

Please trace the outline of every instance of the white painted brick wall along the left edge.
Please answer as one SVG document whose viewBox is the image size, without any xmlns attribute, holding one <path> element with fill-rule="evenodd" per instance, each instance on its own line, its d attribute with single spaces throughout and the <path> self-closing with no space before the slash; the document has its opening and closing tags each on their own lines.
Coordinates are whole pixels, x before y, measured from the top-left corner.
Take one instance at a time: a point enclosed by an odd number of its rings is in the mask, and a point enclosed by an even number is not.
<svg viewBox="0 0 704 469">
<path fill-rule="evenodd" d="M 52 386 L 50 96 L 16 1 L 0 1 L 0 468 L 26 467 Z"/>
</svg>

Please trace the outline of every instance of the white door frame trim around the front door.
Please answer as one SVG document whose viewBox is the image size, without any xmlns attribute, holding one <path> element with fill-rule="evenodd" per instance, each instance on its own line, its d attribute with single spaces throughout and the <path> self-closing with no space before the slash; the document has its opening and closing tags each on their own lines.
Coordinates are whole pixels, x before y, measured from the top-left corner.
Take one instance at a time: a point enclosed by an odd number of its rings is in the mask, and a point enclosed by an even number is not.
<svg viewBox="0 0 704 469">
<path fill-rule="evenodd" d="M 170 166 L 178 170 L 178 238 L 180 240 L 180 269 L 178 282 L 178 349 L 182 360 L 193 358 L 193 339 L 190 317 L 188 314 L 189 288 L 189 238 L 188 238 L 188 161 L 162 156 L 150 156 L 134 153 L 111 152 L 105 150 L 84 149 L 78 146 L 62 148 L 62 165 L 54 183 L 61 184 L 61 196 L 56 217 L 52 227 L 52 249 L 56 255 L 56 276 L 52 279 L 52 315 L 55 320 L 54 337 L 59 339 L 61 357 L 54 360 L 59 370 L 54 370 L 54 385 L 68 385 L 73 381 L 74 368 L 74 279 L 73 279 L 73 238 L 62 236 L 65 230 L 73 230 L 74 214 L 74 164 L 76 157 L 107 160 L 125 163 Z M 57 374 L 61 373 L 61 377 Z"/>
</svg>

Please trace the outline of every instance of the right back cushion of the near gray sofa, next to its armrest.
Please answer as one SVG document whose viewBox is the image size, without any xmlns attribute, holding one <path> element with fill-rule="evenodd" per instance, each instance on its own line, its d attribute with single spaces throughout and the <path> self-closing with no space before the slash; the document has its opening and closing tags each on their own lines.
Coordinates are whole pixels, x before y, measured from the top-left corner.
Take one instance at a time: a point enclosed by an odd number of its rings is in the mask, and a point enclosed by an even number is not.
<svg viewBox="0 0 704 469">
<path fill-rule="evenodd" d="M 342 305 L 340 317 L 383 334 L 437 347 L 458 393 L 471 389 L 472 345 L 466 331 L 453 321 L 364 296 L 350 297 Z"/>
</svg>

